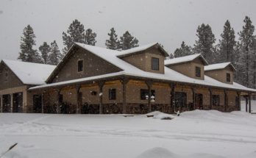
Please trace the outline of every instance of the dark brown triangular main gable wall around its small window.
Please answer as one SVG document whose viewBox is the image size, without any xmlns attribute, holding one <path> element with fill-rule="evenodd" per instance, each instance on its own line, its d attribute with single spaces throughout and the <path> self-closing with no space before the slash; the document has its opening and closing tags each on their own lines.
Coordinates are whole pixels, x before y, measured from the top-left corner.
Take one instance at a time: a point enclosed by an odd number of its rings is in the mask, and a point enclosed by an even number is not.
<svg viewBox="0 0 256 158">
<path fill-rule="evenodd" d="M 82 72 L 77 71 L 77 62 L 79 60 L 83 60 Z M 97 57 L 89 51 L 78 49 L 77 52 L 70 57 L 68 62 L 65 63 L 63 68 L 61 68 L 60 72 L 53 79 L 53 82 L 63 82 L 118 71 L 121 71 L 121 69 L 110 64 L 110 62 L 102 60 L 102 58 Z"/>
</svg>

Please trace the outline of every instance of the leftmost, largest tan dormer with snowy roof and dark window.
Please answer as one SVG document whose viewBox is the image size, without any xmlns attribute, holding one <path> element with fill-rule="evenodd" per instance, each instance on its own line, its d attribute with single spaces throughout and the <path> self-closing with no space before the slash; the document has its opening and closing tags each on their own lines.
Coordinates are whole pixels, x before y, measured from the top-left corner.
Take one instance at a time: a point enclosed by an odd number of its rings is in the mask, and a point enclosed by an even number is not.
<svg viewBox="0 0 256 158">
<path fill-rule="evenodd" d="M 117 57 L 143 71 L 164 73 L 164 60 L 168 54 L 158 43 L 153 43 L 121 51 Z"/>
</svg>

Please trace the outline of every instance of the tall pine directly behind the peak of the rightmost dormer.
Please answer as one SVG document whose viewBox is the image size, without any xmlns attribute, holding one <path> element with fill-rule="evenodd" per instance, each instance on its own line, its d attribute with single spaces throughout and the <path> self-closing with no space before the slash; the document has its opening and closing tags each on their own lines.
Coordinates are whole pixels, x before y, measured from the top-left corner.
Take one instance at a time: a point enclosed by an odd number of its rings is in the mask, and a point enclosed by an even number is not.
<svg viewBox="0 0 256 158">
<path fill-rule="evenodd" d="M 224 24 L 224 30 L 221 33 L 221 40 L 219 40 L 219 56 L 221 62 L 234 63 L 234 49 L 235 49 L 235 31 L 230 26 L 230 21 Z"/>
</svg>

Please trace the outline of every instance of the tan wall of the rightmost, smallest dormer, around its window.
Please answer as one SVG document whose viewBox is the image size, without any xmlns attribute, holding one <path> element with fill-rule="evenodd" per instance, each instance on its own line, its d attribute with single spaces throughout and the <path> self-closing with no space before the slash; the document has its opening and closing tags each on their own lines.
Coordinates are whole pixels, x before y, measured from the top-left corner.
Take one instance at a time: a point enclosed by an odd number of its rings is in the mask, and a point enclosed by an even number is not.
<svg viewBox="0 0 256 158">
<path fill-rule="evenodd" d="M 230 82 L 227 82 L 227 73 L 230 73 Z M 212 77 L 213 79 L 216 79 L 220 82 L 232 84 L 233 83 L 233 76 L 234 73 L 230 68 L 222 69 L 222 70 L 216 70 L 216 71 L 206 71 L 205 75 Z"/>
</svg>

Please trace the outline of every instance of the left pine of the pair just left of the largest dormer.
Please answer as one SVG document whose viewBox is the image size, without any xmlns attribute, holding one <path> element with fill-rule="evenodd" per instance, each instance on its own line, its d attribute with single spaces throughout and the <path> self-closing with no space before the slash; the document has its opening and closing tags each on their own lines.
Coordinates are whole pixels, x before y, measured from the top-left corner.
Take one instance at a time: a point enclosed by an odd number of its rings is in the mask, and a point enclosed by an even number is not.
<svg viewBox="0 0 256 158">
<path fill-rule="evenodd" d="M 119 49 L 120 43 L 118 41 L 118 35 L 115 34 L 115 29 L 111 28 L 110 33 L 107 34 L 110 38 L 106 40 L 105 45 L 107 49 L 117 50 Z"/>
</svg>

